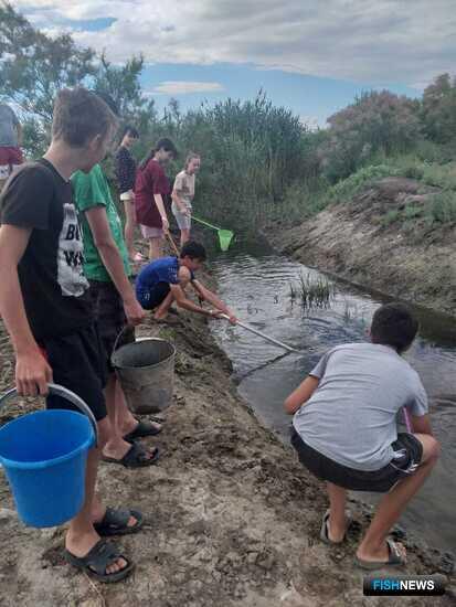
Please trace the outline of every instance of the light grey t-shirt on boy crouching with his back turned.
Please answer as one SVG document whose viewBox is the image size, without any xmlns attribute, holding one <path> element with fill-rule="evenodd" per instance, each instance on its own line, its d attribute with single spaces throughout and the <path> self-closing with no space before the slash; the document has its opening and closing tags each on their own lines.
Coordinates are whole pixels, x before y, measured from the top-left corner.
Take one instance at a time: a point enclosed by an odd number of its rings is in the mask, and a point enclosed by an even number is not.
<svg viewBox="0 0 456 607">
<path fill-rule="evenodd" d="M 310 375 L 320 383 L 293 425 L 307 445 L 356 470 L 379 470 L 393 459 L 401 407 L 427 413 L 418 374 L 388 345 L 338 345 Z"/>
</svg>

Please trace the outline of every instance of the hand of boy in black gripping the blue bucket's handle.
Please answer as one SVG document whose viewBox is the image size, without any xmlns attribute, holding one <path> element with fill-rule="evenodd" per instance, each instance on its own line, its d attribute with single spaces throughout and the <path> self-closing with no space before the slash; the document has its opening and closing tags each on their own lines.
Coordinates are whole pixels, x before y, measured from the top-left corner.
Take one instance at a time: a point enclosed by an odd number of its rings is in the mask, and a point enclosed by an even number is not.
<svg viewBox="0 0 456 607">
<path fill-rule="evenodd" d="M 36 349 L 17 355 L 15 385 L 21 396 L 45 396 L 52 382 L 52 369 Z"/>
</svg>

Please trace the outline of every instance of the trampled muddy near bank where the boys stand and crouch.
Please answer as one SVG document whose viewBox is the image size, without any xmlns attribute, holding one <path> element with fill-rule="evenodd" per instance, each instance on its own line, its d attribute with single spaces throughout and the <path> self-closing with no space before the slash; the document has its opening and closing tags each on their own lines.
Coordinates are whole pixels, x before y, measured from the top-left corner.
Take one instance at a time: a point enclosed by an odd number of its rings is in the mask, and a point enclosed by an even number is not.
<svg viewBox="0 0 456 607">
<path fill-rule="evenodd" d="M 177 385 L 166 429 L 149 443 L 162 457 L 150 469 L 102 464 L 100 490 L 113 505 L 148 515 L 121 545 L 138 563 L 125 583 L 106 587 L 65 564 L 63 530 L 23 528 L 0 473 L 0 605 L 12 607 L 314 607 L 383 605 L 362 597 L 353 566 L 369 511 L 351 503 L 349 541 L 319 541 L 327 507 L 322 487 L 290 450 L 263 428 L 236 395 L 230 363 L 204 320 L 181 315 L 173 326 L 145 324 L 139 334 L 176 342 Z M 12 358 L 1 333 L 1 391 L 11 384 Z M 278 406 L 280 406 L 278 404 Z M 12 409 L 3 412 L 3 420 Z M 0 419 L 1 422 L 1 419 Z M 416 574 L 446 572 L 450 563 L 405 541 Z M 449 584 L 455 578 L 449 574 Z M 446 606 L 454 596 L 390 598 L 389 605 Z"/>
</svg>

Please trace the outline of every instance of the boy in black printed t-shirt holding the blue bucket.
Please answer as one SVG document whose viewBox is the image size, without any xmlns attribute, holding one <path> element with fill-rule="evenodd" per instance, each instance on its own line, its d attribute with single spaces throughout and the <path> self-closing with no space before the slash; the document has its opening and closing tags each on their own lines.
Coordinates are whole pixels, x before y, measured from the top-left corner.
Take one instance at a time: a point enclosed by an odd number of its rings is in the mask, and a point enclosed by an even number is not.
<svg viewBox="0 0 456 607">
<path fill-rule="evenodd" d="M 96 95 L 61 90 L 54 106 L 52 143 L 44 158 L 10 178 L 0 199 L 0 313 L 15 351 L 15 381 L 24 396 L 47 393 L 54 381 L 75 392 L 98 422 L 98 446 L 89 451 L 86 494 L 70 523 L 66 557 L 100 582 L 126 577 L 134 564 L 100 535 L 134 533 L 140 512 L 103 507 L 95 496 L 99 450 L 109 435 L 103 387 L 105 355 L 85 291 L 83 243 L 70 177 L 99 162 L 116 119 Z M 138 305 L 130 321 L 139 323 Z M 56 396 L 47 406 L 67 408 Z"/>
</svg>

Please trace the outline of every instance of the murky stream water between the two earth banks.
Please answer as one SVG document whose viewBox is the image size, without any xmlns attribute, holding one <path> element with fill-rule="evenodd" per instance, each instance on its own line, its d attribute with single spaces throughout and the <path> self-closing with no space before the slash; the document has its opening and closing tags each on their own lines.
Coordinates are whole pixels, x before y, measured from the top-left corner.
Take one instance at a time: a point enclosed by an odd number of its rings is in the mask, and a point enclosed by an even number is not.
<svg viewBox="0 0 456 607">
<path fill-rule="evenodd" d="M 216 340 L 233 362 L 240 393 L 258 417 L 287 440 L 290 418 L 283 412 L 285 397 L 328 349 L 364 341 L 373 311 L 388 298 L 331 280 L 331 306 L 306 311 L 297 301 L 290 301 L 290 283 L 296 284 L 303 271 L 321 274 L 264 243 L 237 244 L 220 255 L 213 267 L 221 297 L 240 320 L 304 351 L 303 355 L 284 356 L 283 350 L 241 328 L 212 323 Z M 420 373 L 430 396 L 432 425 L 443 452 L 401 524 L 420 533 L 430 545 L 456 552 L 456 323 L 428 310 L 416 312 L 421 331 L 406 359 Z"/>
</svg>

